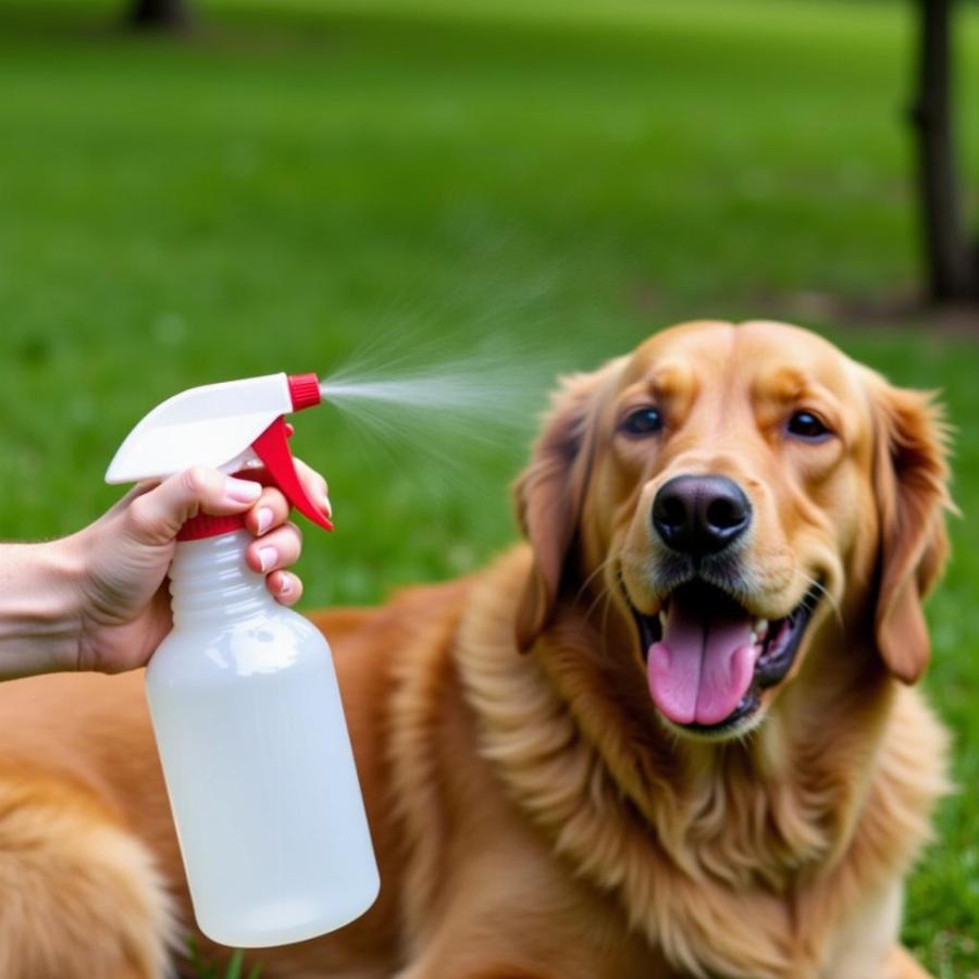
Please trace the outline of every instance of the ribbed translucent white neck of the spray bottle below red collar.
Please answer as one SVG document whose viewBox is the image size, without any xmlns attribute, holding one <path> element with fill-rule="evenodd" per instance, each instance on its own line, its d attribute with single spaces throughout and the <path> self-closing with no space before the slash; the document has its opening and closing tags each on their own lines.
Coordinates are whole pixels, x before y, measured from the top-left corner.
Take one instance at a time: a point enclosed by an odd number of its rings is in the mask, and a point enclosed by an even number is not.
<svg viewBox="0 0 979 979">
<path fill-rule="evenodd" d="M 264 575 L 245 563 L 247 531 L 176 545 L 170 566 L 173 623 L 248 619 L 270 608 L 273 598 Z"/>
</svg>

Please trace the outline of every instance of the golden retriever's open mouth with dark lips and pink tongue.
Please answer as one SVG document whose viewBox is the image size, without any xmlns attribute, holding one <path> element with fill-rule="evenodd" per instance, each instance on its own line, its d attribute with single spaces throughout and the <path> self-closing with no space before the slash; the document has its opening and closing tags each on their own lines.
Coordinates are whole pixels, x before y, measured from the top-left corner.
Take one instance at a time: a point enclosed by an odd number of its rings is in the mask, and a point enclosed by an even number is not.
<svg viewBox="0 0 979 979">
<path fill-rule="evenodd" d="M 752 616 L 706 582 L 681 585 L 659 616 L 636 612 L 649 693 L 691 731 L 717 733 L 760 706 L 760 693 L 792 667 L 820 593 L 815 585 L 784 618 Z"/>
</svg>

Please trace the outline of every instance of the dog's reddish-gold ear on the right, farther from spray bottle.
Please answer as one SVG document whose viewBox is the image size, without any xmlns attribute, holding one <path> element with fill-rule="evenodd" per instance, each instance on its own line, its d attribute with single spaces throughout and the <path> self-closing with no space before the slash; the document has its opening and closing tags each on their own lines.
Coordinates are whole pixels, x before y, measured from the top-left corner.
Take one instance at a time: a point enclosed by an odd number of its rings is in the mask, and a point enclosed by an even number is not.
<svg viewBox="0 0 979 979">
<path fill-rule="evenodd" d="M 931 394 L 892 387 L 879 377 L 873 387 L 880 526 L 873 630 L 891 672 L 914 683 L 931 655 L 922 600 L 949 553 L 949 431 Z"/>
</svg>

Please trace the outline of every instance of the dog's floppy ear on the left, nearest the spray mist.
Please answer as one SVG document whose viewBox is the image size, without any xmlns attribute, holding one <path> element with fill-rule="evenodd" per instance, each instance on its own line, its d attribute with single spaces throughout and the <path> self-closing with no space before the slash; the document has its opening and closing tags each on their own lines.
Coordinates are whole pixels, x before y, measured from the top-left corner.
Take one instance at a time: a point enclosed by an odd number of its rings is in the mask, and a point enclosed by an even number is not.
<svg viewBox="0 0 979 979">
<path fill-rule="evenodd" d="M 595 394 L 604 375 L 602 370 L 562 379 L 530 466 L 513 486 L 517 519 L 533 550 L 533 568 L 517 611 L 521 653 L 547 625 L 560 590 L 592 466 Z"/>
</svg>

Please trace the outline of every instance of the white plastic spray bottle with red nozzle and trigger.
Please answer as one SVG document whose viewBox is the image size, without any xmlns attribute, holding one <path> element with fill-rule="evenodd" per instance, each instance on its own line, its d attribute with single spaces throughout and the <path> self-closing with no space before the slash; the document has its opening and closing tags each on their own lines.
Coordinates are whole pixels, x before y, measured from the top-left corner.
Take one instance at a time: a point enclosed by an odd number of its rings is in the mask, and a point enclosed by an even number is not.
<svg viewBox="0 0 979 979">
<path fill-rule="evenodd" d="M 263 466 L 301 513 L 307 496 L 284 414 L 320 402 L 315 375 L 212 384 L 154 408 L 106 481 L 190 466 L 247 478 Z M 170 569 L 173 630 L 146 692 L 201 931 L 260 947 L 324 934 L 363 914 L 380 879 L 330 647 L 245 565 L 240 517 L 200 516 Z"/>
</svg>

